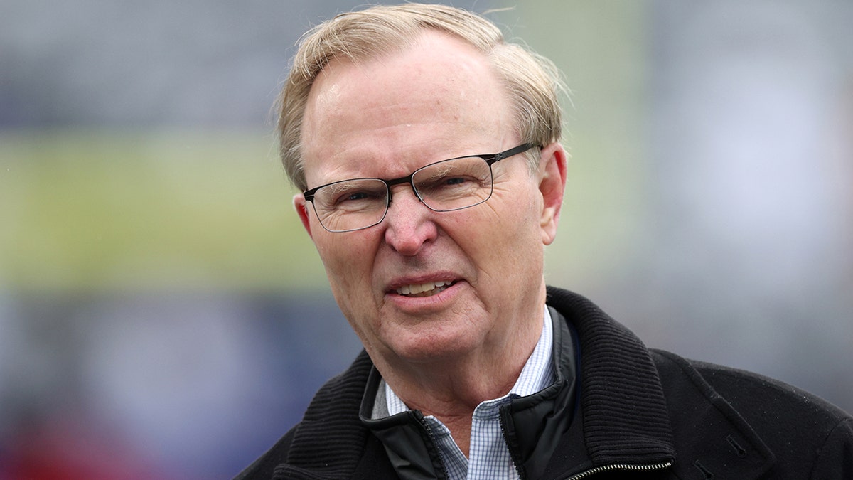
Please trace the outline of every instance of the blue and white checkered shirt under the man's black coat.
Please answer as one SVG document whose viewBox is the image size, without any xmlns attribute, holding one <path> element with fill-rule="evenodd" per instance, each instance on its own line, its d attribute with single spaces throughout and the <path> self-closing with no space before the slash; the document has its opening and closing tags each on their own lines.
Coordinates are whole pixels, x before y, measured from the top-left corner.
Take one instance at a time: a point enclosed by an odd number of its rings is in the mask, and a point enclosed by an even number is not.
<svg viewBox="0 0 853 480">
<path fill-rule="evenodd" d="M 514 387 L 507 395 L 484 401 L 474 409 L 471 420 L 470 458 L 465 458 L 453 441 L 453 437 L 450 436 L 450 430 L 440 420 L 432 415 L 424 417 L 427 428 L 432 430 L 450 480 L 465 478 L 509 480 L 519 477 L 513 459 L 509 455 L 507 442 L 503 438 L 499 409 L 514 398 L 535 394 L 556 381 L 551 354 L 554 350 L 553 328 L 551 314 L 548 313 L 548 307 L 545 307 L 542 335 L 521 370 Z M 409 410 L 390 386 L 385 385 L 385 387 L 390 415 Z"/>
</svg>

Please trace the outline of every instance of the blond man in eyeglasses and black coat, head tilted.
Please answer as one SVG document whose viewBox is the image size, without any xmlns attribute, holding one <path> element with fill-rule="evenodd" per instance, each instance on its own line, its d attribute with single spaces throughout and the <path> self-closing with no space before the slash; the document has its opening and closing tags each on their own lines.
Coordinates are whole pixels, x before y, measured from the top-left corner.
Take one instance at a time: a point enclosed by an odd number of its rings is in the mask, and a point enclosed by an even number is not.
<svg viewBox="0 0 853 480">
<path fill-rule="evenodd" d="M 365 352 L 241 478 L 853 478 L 844 412 L 650 351 L 546 288 L 559 85 L 450 7 L 374 7 L 303 39 L 281 155 Z"/>
</svg>

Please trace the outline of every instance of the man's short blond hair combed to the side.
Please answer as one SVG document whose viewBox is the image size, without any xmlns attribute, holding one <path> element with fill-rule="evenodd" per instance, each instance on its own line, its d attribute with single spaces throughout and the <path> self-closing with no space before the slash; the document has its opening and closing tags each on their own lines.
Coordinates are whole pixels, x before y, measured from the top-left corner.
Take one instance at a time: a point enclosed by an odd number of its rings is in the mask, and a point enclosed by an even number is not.
<svg viewBox="0 0 853 480">
<path fill-rule="evenodd" d="M 306 190 L 302 161 L 302 120 L 311 85 L 330 61 L 364 61 L 402 50 L 424 30 L 447 32 L 483 52 L 507 90 L 524 143 L 537 146 L 560 140 L 560 73 L 554 63 L 519 44 L 509 44 L 489 20 L 446 5 L 377 5 L 341 14 L 306 32 L 293 57 L 276 106 L 279 154 L 287 177 Z M 531 168 L 537 159 L 531 158 Z"/>
</svg>

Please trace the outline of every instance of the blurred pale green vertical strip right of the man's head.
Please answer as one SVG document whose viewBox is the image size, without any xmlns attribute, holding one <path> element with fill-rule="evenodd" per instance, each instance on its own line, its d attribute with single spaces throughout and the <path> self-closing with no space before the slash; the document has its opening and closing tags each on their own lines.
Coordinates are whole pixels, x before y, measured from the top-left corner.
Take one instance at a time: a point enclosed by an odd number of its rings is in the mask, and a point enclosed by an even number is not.
<svg viewBox="0 0 853 480">
<path fill-rule="evenodd" d="M 509 38 L 554 61 L 571 91 L 563 135 L 571 160 L 549 284 L 610 283 L 648 228 L 648 9 L 645 1 L 537 0 L 503 14 Z"/>
</svg>

